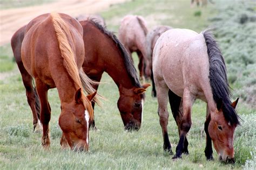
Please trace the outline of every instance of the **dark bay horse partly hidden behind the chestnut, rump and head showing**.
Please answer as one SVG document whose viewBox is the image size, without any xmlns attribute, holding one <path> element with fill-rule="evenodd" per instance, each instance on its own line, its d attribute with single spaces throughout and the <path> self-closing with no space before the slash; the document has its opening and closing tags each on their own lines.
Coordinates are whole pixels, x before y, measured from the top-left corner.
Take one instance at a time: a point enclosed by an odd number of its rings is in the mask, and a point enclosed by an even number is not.
<svg viewBox="0 0 256 170">
<path fill-rule="evenodd" d="M 103 72 L 108 73 L 119 89 L 118 109 L 125 129 L 139 129 L 143 118 L 143 102 L 146 88 L 149 84 L 141 85 L 136 69 L 123 45 L 100 24 L 92 20 L 80 22 L 83 26 L 83 40 L 85 49 L 84 72 L 91 79 L 100 81 Z M 34 130 L 40 129 L 39 121 L 40 104 L 37 100 L 36 90 L 32 86 L 32 77 L 26 73 L 21 60 L 21 45 L 24 39 L 23 26 L 12 37 L 11 44 L 14 56 L 22 73 L 22 79 L 26 88 L 26 96 L 33 113 Z M 95 89 L 98 85 L 93 84 Z M 92 102 L 94 108 L 95 103 Z M 95 127 L 95 121 L 90 121 L 90 126 Z"/>
</svg>

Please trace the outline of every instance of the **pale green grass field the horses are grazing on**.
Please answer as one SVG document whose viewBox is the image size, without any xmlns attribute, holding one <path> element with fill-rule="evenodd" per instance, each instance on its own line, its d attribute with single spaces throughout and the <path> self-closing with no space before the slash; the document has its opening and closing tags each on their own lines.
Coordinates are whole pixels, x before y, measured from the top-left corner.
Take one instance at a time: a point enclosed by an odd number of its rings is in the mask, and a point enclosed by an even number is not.
<svg viewBox="0 0 256 170">
<path fill-rule="evenodd" d="M 189 1 L 150 1 L 149 3 L 143 0 L 113 5 L 102 12 L 102 15 L 106 18 L 107 28 L 116 32 L 120 20 L 128 13 L 144 16 L 150 27 L 164 24 L 200 32 L 211 25 L 207 18 L 217 15 L 217 8 L 209 5 L 207 9 L 191 9 Z M 133 58 L 137 66 L 136 55 Z M 5 63 L 9 62 L 11 67 L 3 69 Z M 85 153 L 60 150 L 61 130 L 58 126 L 60 102 L 56 89 L 49 90 L 49 102 L 52 108 L 51 149 L 44 151 L 41 146 L 41 134 L 32 132 L 32 113 L 26 102 L 21 76 L 17 72 L 17 66 L 12 62 L 10 45 L 0 47 L 0 64 L 0 72 L 12 73 L 9 77 L 0 80 L 0 169 L 255 168 L 255 109 L 238 103 L 237 110 L 241 115 L 242 125 L 235 131 L 236 164 L 226 165 L 218 161 L 215 150 L 213 151 L 215 160 L 206 161 L 204 156 L 206 104 L 197 101 L 193 107 L 192 128 L 188 133 L 190 155 L 183 155 L 183 159 L 172 161 L 171 156 L 162 148 L 157 100 L 151 97 L 151 88 L 146 91 L 142 128 L 137 132 L 126 132 L 123 130 L 116 104 L 119 92 L 107 74 L 104 74 L 102 79 L 105 83 L 101 84 L 98 90 L 107 101 L 103 102 L 103 108 L 96 107 L 95 121 L 100 131 L 90 131 L 90 151 Z M 170 108 L 169 112 L 171 112 Z M 175 151 L 179 140 L 178 130 L 171 113 L 169 119 L 169 137 L 172 150 Z"/>
</svg>

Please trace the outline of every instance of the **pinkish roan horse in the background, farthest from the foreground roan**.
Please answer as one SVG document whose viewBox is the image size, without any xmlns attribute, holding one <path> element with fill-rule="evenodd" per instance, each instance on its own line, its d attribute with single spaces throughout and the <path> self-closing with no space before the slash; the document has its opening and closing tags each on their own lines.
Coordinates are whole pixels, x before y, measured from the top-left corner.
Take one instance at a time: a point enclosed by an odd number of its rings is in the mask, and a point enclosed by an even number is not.
<svg viewBox="0 0 256 170">
<path fill-rule="evenodd" d="M 146 36 L 147 26 L 143 17 L 132 15 L 124 17 L 119 28 L 118 37 L 130 56 L 132 52 L 138 54 L 140 79 L 144 79 L 144 66 L 148 63 L 146 58 Z"/>
</svg>

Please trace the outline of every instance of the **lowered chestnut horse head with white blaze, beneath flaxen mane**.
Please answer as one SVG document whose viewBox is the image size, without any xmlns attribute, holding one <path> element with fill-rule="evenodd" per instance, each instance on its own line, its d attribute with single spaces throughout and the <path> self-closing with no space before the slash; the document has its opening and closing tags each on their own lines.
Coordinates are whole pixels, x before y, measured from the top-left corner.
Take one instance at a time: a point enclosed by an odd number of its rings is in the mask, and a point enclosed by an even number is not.
<svg viewBox="0 0 256 170">
<path fill-rule="evenodd" d="M 82 89 L 76 91 L 75 97 L 71 103 L 62 103 L 62 112 L 59 117 L 59 126 L 68 142 L 69 146 L 77 151 L 88 150 L 89 138 L 89 119 L 93 114 L 91 105 L 85 105 L 85 100 L 93 99 L 96 92 L 88 95 L 87 98 L 83 95 Z"/>
</svg>

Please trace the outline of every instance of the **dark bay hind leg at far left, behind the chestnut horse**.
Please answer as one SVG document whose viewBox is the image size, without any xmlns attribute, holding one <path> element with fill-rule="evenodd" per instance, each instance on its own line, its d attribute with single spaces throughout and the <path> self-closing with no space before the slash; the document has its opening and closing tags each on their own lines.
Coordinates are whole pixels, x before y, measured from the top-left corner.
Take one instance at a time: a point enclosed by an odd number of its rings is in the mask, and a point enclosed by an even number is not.
<svg viewBox="0 0 256 170">
<path fill-rule="evenodd" d="M 33 87 L 32 84 L 32 76 L 29 75 L 29 73 L 26 71 L 22 62 L 17 62 L 17 65 L 19 71 L 21 72 L 22 81 L 26 89 L 26 98 L 28 100 L 29 106 L 33 114 L 33 131 L 41 132 L 42 126 L 39 120 L 40 104 L 36 93 L 36 89 Z"/>
</svg>

